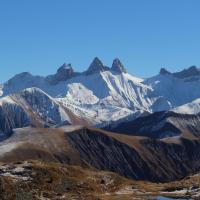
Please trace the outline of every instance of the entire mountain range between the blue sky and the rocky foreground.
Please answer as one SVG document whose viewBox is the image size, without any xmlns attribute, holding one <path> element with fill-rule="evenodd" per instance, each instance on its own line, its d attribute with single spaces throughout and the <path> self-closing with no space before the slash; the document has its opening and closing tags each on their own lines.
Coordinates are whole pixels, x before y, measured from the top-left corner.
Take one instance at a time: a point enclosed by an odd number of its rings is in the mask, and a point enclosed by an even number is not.
<svg viewBox="0 0 200 200">
<path fill-rule="evenodd" d="M 200 170 L 200 69 L 150 78 L 97 57 L 0 85 L 0 161 L 44 160 L 169 182 Z"/>
</svg>

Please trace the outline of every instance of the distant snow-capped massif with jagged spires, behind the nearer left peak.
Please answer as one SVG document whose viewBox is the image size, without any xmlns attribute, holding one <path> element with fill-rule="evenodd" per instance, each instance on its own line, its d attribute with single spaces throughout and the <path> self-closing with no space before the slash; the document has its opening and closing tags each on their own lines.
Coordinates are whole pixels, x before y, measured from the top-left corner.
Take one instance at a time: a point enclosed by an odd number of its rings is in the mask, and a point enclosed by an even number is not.
<svg viewBox="0 0 200 200">
<path fill-rule="evenodd" d="M 82 73 L 75 72 L 71 64 L 63 64 L 47 77 L 28 72 L 17 74 L 0 85 L 0 95 L 5 97 L 27 88 L 39 88 L 77 118 L 99 125 L 174 109 L 200 98 L 199 85 L 200 70 L 194 66 L 176 73 L 162 68 L 160 74 L 140 79 L 128 74 L 119 59 L 109 68 L 95 58 Z M 54 112 L 45 109 L 39 110 L 44 118 L 45 112 L 49 115 Z"/>
</svg>

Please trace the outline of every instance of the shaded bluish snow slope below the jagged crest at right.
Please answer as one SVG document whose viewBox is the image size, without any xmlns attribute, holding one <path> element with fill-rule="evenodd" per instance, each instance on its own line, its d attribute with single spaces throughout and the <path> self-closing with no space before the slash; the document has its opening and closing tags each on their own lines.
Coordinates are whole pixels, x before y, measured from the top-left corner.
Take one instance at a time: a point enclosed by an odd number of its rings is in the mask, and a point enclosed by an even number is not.
<svg viewBox="0 0 200 200">
<path fill-rule="evenodd" d="M 200 97 L 200 77 L 177 78 L 172 74 L 159 74 L 143 83 L 152 88 L 150 97 L 162 96 L 172 108 Z"/>
</svg>

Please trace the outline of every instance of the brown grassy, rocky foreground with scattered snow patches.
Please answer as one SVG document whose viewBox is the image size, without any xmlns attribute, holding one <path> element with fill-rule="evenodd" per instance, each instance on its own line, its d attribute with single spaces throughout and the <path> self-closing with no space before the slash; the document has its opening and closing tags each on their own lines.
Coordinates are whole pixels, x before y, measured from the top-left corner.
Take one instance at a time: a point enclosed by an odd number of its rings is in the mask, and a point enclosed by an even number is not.
<svg viewBox="0 0 200 200">
<path fill-rule="evenodd" d="M 199 199 L 200 175 L 156 184 L 115 173 L 54 162 L 0 164 L 2 200 L 135 200 L 165 197 Z"/>
</svg>

